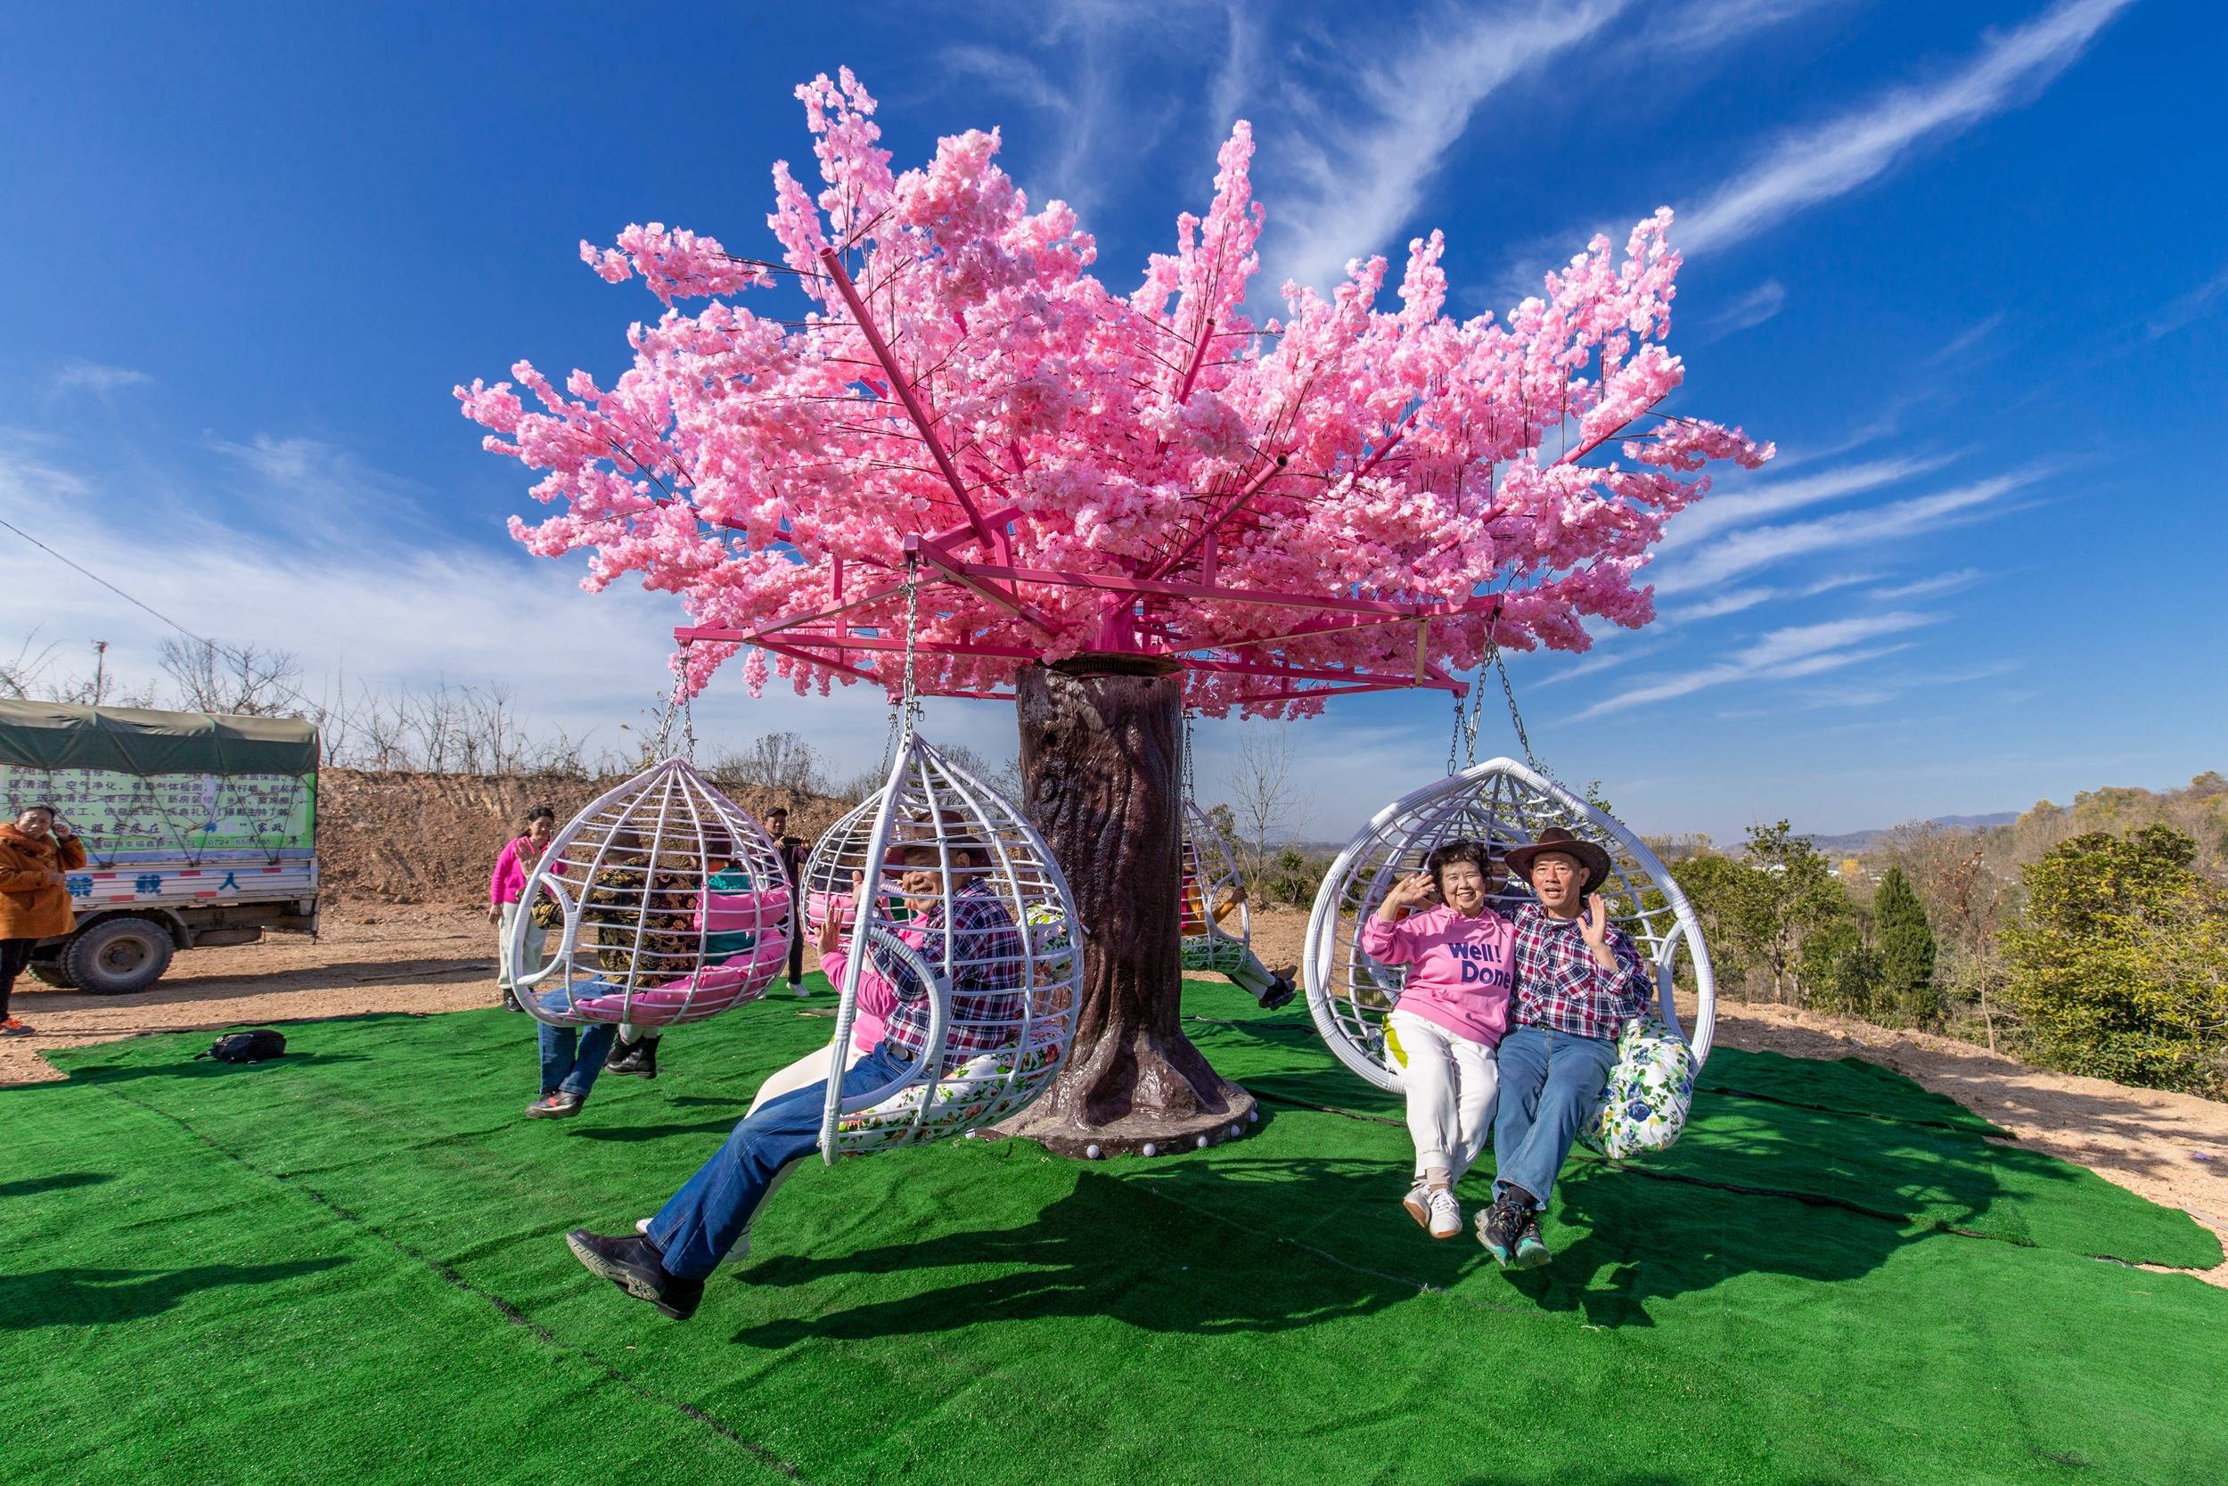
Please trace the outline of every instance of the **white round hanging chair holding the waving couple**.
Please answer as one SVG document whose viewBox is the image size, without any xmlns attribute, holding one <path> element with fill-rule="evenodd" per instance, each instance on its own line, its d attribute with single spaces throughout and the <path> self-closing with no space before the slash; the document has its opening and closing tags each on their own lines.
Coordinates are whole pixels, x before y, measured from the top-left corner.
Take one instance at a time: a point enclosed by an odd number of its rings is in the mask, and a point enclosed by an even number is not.
<svg viewBox="0 0 2228 1486">
<path fill-rule="evenodd" d="M 1687 1040 L 1693 1065 L 1700 1067 L 1709 1056 L 1718 996 L 1702 925 L 1687 896 L 1638 835 L 1511 757 L 1488 760 L 1377 811 L 1323 878 L 1308 916 L 1301 974 L 1308 1014 L 1346 1067 L 1379 1089 L 1401 1092 L 1401 1069 L 1388 1054 L 1384 1023 L 1399 1000 L 1404 971 L 1372 960 L 1359 945 L 1361 922 L 1377 911 L 1393 884 L 1424 871 L 1424 858 L 1442 842 L 1484 842 L 1499 858 L 1511 847 L 1528 844 L 1546 827 L 1564 827 L 1609 851 L 1611 871 L 1602 884 L 1609 913 L 1649 962 L 1658 1014 Z M 1495 893 L 1493 907 L 1515 913 L 1526 900 L 1531 889 L 1511 878 Z M 1691 1029 L 1680 1025 L 1671 996 L 1680 954 L 1693 971 Z"/>
</svg>

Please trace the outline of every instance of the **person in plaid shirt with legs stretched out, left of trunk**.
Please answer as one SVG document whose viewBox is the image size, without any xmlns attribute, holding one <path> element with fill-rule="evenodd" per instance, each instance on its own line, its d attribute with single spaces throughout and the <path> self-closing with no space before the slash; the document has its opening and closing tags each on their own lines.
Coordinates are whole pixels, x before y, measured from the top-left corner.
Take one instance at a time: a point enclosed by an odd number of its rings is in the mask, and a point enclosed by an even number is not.
<svg viewBox="0 0 2228 1486">
<path fill-rule="evenodd" d="M 962 878 L 949 889 L 945 853 L 956 869 L 951 876 Z M 922 936 L 920 958 L 936 967 L 951 965 L 951 1020 L 938 1072 L 1009 1047 L 1027 1016 L 1020 933 L 983 876 L 987 862 L 987 847 L 951 838 L 942 847 L 934 838 L 905 842 L 887 862 L 902 869 L 898 887 L 913 909 L 907 927 Z M 867 898 L 864 884 L 858 898 Z M 844 1096 L 898 1083 L 927 1054 L 931 987 L 885 945 L 869 945 L 869 956 L 896 1005 L 882 1043 L 838 1074 Z M 829 1078 L 815 1078 L 746 1114 L 726 1145 L 651 1219 L 648 1232 L 568 1232 L 573 1257 L 635 1299 L 686 1321 L 704 1299 L 704 1277 L 751 1228 L 778 1176 L 820 1147 L 827 1085 Z"/>
</svg>

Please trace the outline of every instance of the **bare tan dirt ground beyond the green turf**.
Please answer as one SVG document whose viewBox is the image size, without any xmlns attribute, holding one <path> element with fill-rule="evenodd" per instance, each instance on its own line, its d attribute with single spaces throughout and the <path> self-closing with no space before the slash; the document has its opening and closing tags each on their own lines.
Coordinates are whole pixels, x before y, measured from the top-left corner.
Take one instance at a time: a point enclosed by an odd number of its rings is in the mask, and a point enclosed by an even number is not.
<svg viewBox="0 0 2228 1486">
<path fill-rule="evenodd" d="M 1254 913 L 1254 951 L 1274 969 L 1299 962 L 1306 916 Z M 815 956 L 807 951 L 811 967 Z M 140 996 L 82 996 L 16 987 L 16 1014 L 38 1036 L 0 1043 L 0 1087 L 60 1078 L 40 1054 L 149 1032 L 238 1027 L 492 1007 L 495 929 L 483 911 L 361 907 L 328 913 L 319 940 L 194 949 Z M 2085 1165 L 2130 1192 L 2190 1212 L 2228 1239 L 2228 1105 L 2130 1089 L 2101 1078 L 2045 1074 L 1987 1049 L 1925 1032 L 1887 1032 L 1843 1016 L 1765 1005 L 1720 1005 L 1718 1043 L 1796 1058 L 1880 1063 L 2010 1130 L 2021 1145 Z M 2206 1274 L 2228 1285 L 2228 1265 Z"/>
</svg>

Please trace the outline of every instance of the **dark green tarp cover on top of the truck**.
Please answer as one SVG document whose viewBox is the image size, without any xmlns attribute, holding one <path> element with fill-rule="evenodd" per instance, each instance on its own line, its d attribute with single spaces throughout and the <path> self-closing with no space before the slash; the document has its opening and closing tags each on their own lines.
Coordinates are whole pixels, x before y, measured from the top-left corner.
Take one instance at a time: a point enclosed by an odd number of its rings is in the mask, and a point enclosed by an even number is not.
<svg viewBox="0 0 2228 1486">
<path fill-rule="evenodd" d="M 316 726 L 299 717 L 0 702 L 0 764 L 118 773 L 314 773 Z"/>
</svg>

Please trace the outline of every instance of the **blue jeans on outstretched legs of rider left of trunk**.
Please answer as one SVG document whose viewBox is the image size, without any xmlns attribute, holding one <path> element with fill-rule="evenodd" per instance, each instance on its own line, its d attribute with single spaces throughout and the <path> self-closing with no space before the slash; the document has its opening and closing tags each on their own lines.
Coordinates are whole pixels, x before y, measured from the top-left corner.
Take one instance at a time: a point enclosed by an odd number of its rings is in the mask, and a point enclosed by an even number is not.
<svg viewBox="0 0 2228 1486">
<path fill-rule="evenodd" d="M 844 1098 L 896 1083 L 909 1065 L 905 1049 L 882 1043 L 844 1072 Z M 651 1243 L 664 1254 L 666 1274 L 702 1279 L 720 1268 L 782 1167 L 820 1150 L 827 1098 L 827 1078 L 769 1098 L 746 1114 L 726 1136 L 726 1145 L 657 1210 L 651 1219 Z"/>
</svg>

